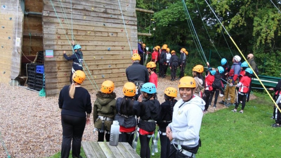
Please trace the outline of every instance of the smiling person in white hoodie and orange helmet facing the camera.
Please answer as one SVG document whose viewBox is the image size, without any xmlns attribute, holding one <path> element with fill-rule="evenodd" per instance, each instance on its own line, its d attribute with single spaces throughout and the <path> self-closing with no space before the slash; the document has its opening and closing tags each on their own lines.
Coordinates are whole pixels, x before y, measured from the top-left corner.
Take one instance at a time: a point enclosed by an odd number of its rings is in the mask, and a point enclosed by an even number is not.
<svg viewBox="0 0 281 158">
<path fill-rule="evenodd" d="M 191 158 L 201 144 L 199 131 L 205 102 L 194 95 L 194 78 L 182 77 L 178 87 L 181 99 L 175 104 L 172 123 L 166 128 L 166 135 L 172 141 L 169 158 Z"/>
</svg>

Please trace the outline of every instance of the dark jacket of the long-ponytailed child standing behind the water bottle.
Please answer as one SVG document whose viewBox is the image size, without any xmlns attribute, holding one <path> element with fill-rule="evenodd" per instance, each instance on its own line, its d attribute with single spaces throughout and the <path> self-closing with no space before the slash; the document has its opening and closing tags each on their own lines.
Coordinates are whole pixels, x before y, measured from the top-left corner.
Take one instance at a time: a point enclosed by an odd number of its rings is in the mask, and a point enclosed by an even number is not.
<svg viewBox="0 0 281 158">
<path fill-rule="evenodd" d="M 131 111 L 133 111 L 133 115 L 127 117 L 127 116 L 123 116 L 123 114 L 120 111 L 121 101 L 122 101 L 122 98 L 117 98 L 117 101 L 116 101 L 117 114 L 115 115 L 114 120 L 117 120 L 119 122 L 119 125 L 123 126 L 125 128 L 135 127 L 137 125 L 135 115 L 136 115 L 136 117 L 139 117 L 139 115 L 140 115 L 139 102 L 136 100 L 133 101 L 133 109 L 130 109 Z"/>
</svg>

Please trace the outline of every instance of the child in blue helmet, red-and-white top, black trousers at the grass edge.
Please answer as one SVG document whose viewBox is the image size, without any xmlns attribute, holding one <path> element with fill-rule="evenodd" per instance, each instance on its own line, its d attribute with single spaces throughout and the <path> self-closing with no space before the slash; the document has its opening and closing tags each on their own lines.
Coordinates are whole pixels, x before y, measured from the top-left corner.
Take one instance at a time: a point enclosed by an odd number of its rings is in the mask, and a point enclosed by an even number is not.
<svg viewBox="0 0 281 158">
<path fill-rule="evenodd" d="M 247 93 L 249 91 L 249 86 L 250 86 L 252 74 L 253 74 L 252 69 L 246 68 L 245 75 L 242 77 L 240 82 L 237 84 L 237 87 L 239 88 L 238 97 L 237 97 L 237 101 L 235 103 L 235 108 L 232 109 L 231 111 L 237 112 L 237 108 L 238 108 L 240 102 L 242 101 L 242 107 L 241 107 L 241 110 L 239 112 L 244 113 Z"/>
</svg>

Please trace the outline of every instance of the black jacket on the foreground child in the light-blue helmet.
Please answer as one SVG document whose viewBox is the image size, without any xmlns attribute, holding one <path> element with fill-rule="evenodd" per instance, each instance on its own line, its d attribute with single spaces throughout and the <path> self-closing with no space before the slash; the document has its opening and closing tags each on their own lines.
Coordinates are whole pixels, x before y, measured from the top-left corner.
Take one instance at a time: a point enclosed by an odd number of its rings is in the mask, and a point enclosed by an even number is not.
<svg viewBox="0 0 281 158">
<path fill-rule="evenodd" d="M 152 132 L 155 130 L 155 122 L 148 122 L 148 120 L 160 121 L 161 106 L 158 100 L 147 100 L 140 103 L 140 121 L 138 127 Z"/>
</svg>

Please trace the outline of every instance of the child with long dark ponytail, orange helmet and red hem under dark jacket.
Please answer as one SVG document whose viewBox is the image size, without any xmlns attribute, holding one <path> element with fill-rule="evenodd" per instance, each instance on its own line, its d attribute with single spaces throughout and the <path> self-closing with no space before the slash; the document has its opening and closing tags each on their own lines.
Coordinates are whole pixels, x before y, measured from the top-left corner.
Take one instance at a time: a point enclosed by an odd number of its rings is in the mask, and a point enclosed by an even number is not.
<svg viewBox="0 0 281 158">
<path fill-rule="evenodd" d="M 128 142 L 131 146 L 133 143 L 134 133 L 137 126 L 137 118 L 140 116 L 139 102 L 134 100 L 136 95 L 136 85 L 127 82 L 123 86 L 123 98 L 117 98 L 114 120 L 120 125 L 118 142 Z"/>
</svg>

